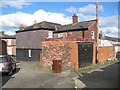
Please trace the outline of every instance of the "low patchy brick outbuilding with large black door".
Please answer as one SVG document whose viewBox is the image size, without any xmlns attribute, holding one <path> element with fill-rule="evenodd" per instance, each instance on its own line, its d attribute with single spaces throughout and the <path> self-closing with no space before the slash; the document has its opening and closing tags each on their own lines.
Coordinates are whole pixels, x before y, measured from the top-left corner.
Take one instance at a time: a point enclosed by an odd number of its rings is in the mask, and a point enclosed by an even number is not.
<svg viewBox="0 0 120 90">
<path fill-rule="evenodd" d="M 53 62 L 61 61 L 61 70 L 78 69 L 96 63 L 96 43 L 80 38 L 52 38 L 42 43 L 40 63 L 52 69 Z M 56 67 L 58 68 L 58 66 Z"/>
</svg>

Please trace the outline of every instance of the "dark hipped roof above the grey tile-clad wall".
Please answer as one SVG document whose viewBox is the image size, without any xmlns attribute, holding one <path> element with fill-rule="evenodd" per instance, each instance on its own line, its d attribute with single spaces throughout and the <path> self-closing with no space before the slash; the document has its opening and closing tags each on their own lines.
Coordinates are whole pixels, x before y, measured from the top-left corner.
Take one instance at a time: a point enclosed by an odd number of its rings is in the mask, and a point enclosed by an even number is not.
<svg viewBox="0 0 120 90">
<path fill-rule="evenodd" d="M 61 26 L 61 24 L 58 23 L 52 23 L 52 22 L 47 22 L 47 21 L 43 21 L 40 23 L 36 23 L 37 24 L 37 29 L 55 29 L 56 26 Z M 31 30 L 31 29 L 36 29 L 34 28 L 34 25 L 31 25 L 27 28 L 25 28 L 25 30 Z"/>
</svg>

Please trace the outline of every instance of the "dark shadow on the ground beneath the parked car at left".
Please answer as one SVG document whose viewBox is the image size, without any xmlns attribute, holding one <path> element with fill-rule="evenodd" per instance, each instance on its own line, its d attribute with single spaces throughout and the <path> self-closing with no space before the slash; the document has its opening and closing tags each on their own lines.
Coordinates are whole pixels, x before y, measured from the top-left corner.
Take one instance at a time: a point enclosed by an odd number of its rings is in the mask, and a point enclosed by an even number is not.
<svg viewBox="0 0 120 90">
<path fill-rule="evenodd" d="M 18 73 L 19 71 L 20 71 L 20 68 L 16 68 L 16 71 L 13 72 L 13 75 Z M 13 75 L 9 76 L 9 75 L 6 75 L 6 74 L 2 74 L 2 87 L 7 83 L 7 81 L 10 78 L 14 78 L 14 77 L 12 77 Z"/>
</svg>

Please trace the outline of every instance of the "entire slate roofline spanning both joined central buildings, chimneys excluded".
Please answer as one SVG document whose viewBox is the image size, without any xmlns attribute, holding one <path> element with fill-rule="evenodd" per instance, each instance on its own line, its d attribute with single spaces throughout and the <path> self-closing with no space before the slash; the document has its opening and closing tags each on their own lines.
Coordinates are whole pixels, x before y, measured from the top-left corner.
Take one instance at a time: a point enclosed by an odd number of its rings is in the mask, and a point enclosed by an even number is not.
<svg viewBox="0 0 120 90">
<path fill-rule="evenodd" d="M 65 32 L 65 31 L 74 31 L 74 30 L 88 30 L 88 28 L 95 22 L 96 20 L 89 20 L 89 21 L 82 21 L 78 22 L 76 24 L 67 24 L 67 25 L 61 25 L 58 23 L 52 23 L 43 21 L 40 23 L 36 23 L 37 27 L 34 28 L 34 25 L 31 25 L 29 27 L 26 27 L 22 31 L 16 31 L 16 32 L 24 32 L 24 31 L 32 31 L 32 30 L 53 30 L 55 33 L 57 32 Z"/>
</svg>

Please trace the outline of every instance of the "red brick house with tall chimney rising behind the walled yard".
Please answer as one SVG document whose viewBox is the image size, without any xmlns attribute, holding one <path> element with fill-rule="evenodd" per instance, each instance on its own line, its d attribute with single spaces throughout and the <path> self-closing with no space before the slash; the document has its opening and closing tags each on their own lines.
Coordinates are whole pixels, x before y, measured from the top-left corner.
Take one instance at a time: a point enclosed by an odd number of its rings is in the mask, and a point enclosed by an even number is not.
<svg viewBox="0 0 120 90">
<path fill-rule="evenodd" d="M 83 38 L 97 42 L 97 20 L 78 22 L 78 16 L 72 16 L 73 23 L 57 27 L 54 37 Z"/>
</svg>

